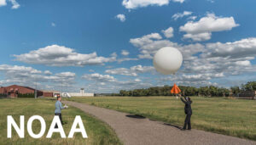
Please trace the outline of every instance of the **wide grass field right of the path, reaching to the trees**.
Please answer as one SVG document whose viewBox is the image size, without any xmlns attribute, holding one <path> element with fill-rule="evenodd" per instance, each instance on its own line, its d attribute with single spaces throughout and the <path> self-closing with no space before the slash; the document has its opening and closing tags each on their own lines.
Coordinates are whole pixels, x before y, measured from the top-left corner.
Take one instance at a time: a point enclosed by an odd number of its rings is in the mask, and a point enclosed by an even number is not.
<svg viewBox="0 0 256 145">
<path fill-rule="evenodd" d="M 96 97 L 68 100 L 140 114 L 172 125 L 182 126 L 185 117 L 184 104 L 173 97 Z M 199 97 L 192 97 L 192 100 L 192 128 L 256 140 L 256 101 Z"/>
</svg>

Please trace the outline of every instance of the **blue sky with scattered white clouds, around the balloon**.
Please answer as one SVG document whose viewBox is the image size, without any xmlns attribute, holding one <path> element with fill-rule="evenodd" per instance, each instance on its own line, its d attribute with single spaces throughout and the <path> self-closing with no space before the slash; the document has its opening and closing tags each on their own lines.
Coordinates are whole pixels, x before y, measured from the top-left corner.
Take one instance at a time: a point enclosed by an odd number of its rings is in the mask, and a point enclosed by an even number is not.
<svg viewBox="0 0 256 145">
<path fill-rule="evenodd" d="M 0 86 L 119 92 L 255 81 L 256 1 L 0 0 Z M 176 47 L 183 65 L 153 58 Z"/>
</svg>

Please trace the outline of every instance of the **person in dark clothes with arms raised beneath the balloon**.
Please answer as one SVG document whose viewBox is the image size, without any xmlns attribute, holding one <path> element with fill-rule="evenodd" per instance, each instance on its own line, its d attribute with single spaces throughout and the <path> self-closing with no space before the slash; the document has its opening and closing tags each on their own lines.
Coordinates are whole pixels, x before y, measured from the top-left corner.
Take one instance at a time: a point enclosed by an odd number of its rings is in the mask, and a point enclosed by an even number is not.
<svg viewBox="0 0 256 145">
<path fill-rule="evenodd" d="M 183 98 L 180 98 L 182 100 L 183 103 L 185 103 L 185 114 L 186 114 L 186 119 L 184 122 L 184 126 L 183 126 L 183 130 L 186 130 L 187 125 L 188 125 L 188 130 L 191 130 L 191 124 L 190 124 L 190 118 L 192 115 L 192 109 L 191 109 L 191 103 L 192 100 L 190 98 L 185 98 L 185 100 L 183 100 Z"/>
</svg>

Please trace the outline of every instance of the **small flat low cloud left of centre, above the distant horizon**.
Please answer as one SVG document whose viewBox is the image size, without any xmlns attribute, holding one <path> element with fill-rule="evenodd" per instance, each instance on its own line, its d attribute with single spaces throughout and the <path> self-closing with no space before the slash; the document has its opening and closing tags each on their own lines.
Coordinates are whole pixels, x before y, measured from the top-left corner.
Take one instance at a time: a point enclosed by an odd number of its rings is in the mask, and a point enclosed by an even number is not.
<svg viewBox="0 0 256 145">
<path fill-rule="evenodd" d="M 82 76 L 83 79 L 88 81 L 99 81 L 99 82 L 112 82 L 116 81 L 116 79 L 111 75 L 101 75 L 98 73 L 95 74 L 84 74 Z"/>
</svg>

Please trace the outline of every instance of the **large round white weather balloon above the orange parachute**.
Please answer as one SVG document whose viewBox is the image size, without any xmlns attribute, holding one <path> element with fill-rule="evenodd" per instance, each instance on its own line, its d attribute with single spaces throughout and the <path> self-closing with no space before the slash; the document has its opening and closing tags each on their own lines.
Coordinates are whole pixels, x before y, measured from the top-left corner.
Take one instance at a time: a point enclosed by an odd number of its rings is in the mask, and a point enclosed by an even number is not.
<svg viewBox="0 0 256 145">
<path fill-rule="evenodd" d="M 183 55 L 175 47 L 162 47 L 154 54 L 154 68 L 164 74 L 174 74 L 183 64 Z"/>
</svg>

